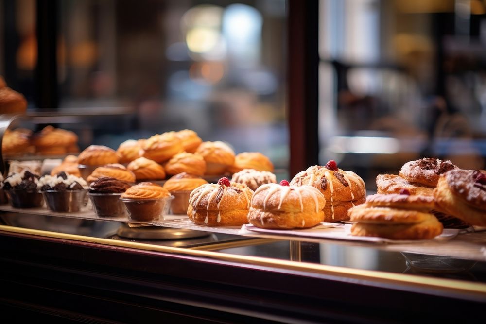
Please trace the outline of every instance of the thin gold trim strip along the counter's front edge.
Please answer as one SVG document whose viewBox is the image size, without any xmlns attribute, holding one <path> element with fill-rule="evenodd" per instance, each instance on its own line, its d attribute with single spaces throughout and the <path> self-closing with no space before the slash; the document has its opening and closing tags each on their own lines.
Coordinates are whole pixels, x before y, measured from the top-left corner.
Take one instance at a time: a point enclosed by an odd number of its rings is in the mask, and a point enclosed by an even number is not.
<svg viewBox="0 0 486 324">
<path fill-rule="evenodd" d="M 56 239 L 70 239 L 76 241 L 99 243 L 110 246 L 120 246 L 127 248 L 134 248 L 140 250 L 149 250 L 163 253 L 174 253 L 174 254 L 184 254 L 190 256 L 198 256 L 205 258 L 213 258 L 218 260 L 224 260 L 228 262 L 238 262 L 244 264 L 258 265 L 264 267 L 272 267 L 284 270 L 293 270 L 308 273 L 319 273 L 328 274 L 341 277 L 347 277 L 359 280 L 370 280 L 380 283 L 394 283 L 402 286 L 415 285 L 417 288 L 432 288 L 432 289 L 444 289 L 449 292 L 458 293 L 473 293 L 485 296 L 486 294 L 486 284 L 477 282 L 466 282 L 453 279 L 442 279 L 442 278 L 431 278 L 420 275 L 411 275 L 403 273 L 386 273 L 375 270 L 363 270 L 363 269 L 353 269 L 338 266 L 330 266 L 324 264 L 314 264 L 306 262 L 295 262 L 287 260 L 270 259 L 259 256 L 238 256 L 219 252 L 210 251 L 200 251 L 192 250 L 186 248 L 177 248 L 170 246 L 158 246 L 146 243 L 130 242 L 130 241 L 119 241 L 114 239 L 101 239 L 92 238 L 81 235 L 56 233 L 42 230 L 35 230 L 29 228 L 20 228 L 13 226 L 0 225 L 0 231 L 28 234 L 36 236 L 44 236 Z"/>
</svg>

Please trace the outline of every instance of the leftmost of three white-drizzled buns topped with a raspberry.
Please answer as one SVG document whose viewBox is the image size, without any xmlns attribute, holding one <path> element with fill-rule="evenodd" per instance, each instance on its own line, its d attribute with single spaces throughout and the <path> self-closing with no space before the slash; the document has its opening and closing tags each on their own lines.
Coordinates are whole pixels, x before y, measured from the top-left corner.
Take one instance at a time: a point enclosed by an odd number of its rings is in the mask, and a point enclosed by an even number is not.
<svg viewBox="0 0 486 324">
<path fill-rule="evenodd" d="M 247 214 L 253 191 L 246 185 L 221 178 L 217 184 L 206 184 L 192 190 L 189 196 L 189 219 L 206 226 L 241 226 Z"/>
</svg>

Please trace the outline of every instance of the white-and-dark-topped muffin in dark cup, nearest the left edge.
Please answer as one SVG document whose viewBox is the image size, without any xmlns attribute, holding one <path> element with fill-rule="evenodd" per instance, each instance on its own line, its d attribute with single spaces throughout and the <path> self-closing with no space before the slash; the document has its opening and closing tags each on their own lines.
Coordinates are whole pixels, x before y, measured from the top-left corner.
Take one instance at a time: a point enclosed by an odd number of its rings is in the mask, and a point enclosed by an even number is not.
<svg viewBox="0 0 486 324">
<path fill-rule="evenodd" d="M 3 189 L 10 205 L 16 208 L 32 208 L 42 206 L 42 193 L 38 192 L 39 176 L 29 170 L 10 173 L 3 180 Z"/>
</svg>

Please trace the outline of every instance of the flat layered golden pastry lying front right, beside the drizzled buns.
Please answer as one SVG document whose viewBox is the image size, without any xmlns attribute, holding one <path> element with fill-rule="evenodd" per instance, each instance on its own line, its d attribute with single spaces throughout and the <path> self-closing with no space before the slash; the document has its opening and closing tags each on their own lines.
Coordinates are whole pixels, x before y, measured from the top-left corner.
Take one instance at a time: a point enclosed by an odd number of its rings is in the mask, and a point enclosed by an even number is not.
<svg viewBox="0 0 486 324">
<path fill-rule="evenodd" d="M 405 192 L 408 193 L 408 192 Z M 430 210 L 434 198 L 408 194 L 376 194 L 349 209 L 351 235 L 387 239 L 433 239 L 443 230 Z"/>
</svg>

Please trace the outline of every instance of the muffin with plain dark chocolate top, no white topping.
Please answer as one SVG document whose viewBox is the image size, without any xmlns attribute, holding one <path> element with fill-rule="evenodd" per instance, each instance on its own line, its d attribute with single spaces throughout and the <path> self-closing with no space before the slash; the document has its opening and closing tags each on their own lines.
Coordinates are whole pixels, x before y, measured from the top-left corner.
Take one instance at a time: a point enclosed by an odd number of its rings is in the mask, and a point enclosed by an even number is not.
<svg viewBox="0 0 486 324">
<path fill-rule="evenodd" d="M 89 185 L 88 196 L 99 217 L 125 217 L 126 208 L 120 196 L 130 184 L 111 177 L 101 177 Z"/>
</svg>

